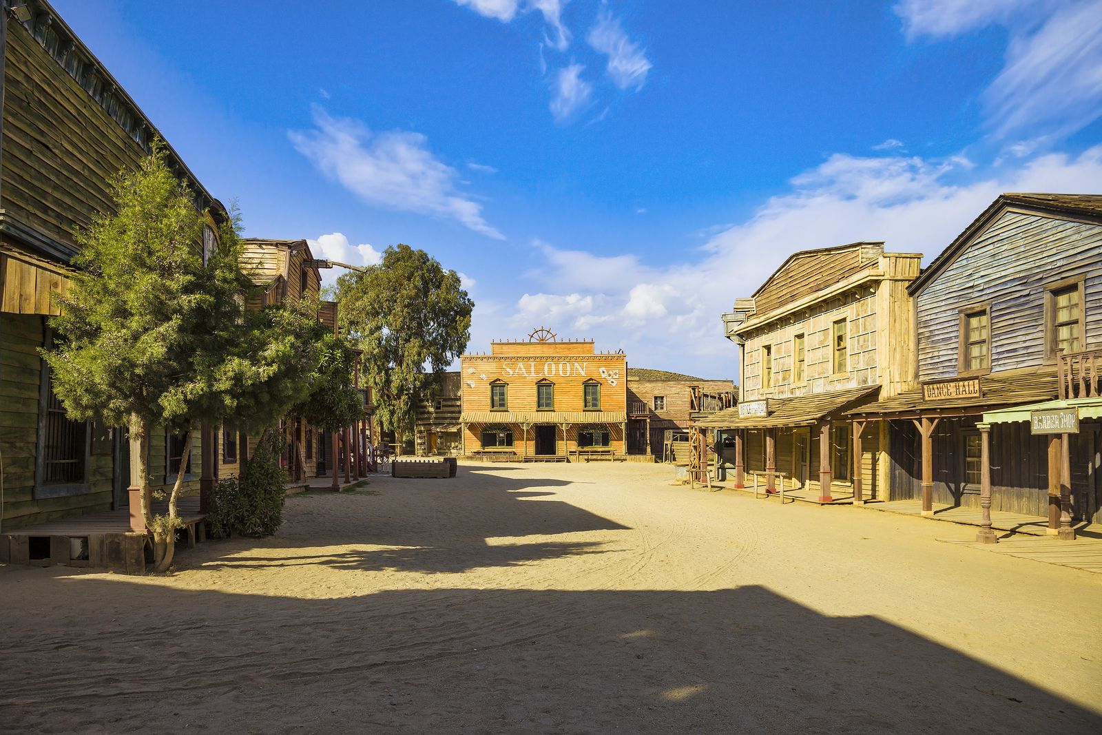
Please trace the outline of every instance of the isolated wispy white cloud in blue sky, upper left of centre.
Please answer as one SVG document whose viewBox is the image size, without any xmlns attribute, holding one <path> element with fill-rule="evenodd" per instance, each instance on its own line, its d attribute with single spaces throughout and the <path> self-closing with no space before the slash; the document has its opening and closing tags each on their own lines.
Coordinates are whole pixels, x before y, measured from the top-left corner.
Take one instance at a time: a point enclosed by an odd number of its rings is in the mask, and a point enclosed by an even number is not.
<svg viewBox="0 0 1102 735">
<path fill-rule="evenodd" d="M 372 133 L 355 120 L 314 108 L 313 130 L 290 131 L 295 149 L 326 176 L 375 206 L 458 220 L 476 233 L 505 239 L 482 216 L 482 205 L 456 190 L 455 169 L 429 150 L 417 132 Z"/>
</svg>

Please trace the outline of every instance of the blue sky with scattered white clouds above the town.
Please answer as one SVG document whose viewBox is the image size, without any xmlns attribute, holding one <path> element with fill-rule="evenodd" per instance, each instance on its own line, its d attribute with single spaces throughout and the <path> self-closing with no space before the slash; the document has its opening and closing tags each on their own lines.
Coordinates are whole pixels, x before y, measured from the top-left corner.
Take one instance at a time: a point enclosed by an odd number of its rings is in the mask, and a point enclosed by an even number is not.
<svg viewBox="0 0 1102 735">
<path fill-rule="evenodd" d="M 737 378 L 720 314 L 791 252 L 1102 193 L 1102 0 L 54 6 L 247 235 L 428 250 L 472 350 Z"/>
</svg>

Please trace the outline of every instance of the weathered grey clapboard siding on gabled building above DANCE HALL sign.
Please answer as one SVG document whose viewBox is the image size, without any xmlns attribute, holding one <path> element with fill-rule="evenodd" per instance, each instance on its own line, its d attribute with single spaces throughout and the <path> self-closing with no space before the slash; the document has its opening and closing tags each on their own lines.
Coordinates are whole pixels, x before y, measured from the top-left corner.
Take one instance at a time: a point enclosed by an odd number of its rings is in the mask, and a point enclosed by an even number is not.
<svg viewBox="0 0 1102 735">
<path fill-rule="evenodd" d="M 916 296 L 919 379 L 957 375 L 960 310 L 991 305 L 991 370 L 1045 363 L 1045 290 L 1082 278 L 1087 345 L 1102 345 L 1102 226 L 1007 210 Z"/>
</svg>

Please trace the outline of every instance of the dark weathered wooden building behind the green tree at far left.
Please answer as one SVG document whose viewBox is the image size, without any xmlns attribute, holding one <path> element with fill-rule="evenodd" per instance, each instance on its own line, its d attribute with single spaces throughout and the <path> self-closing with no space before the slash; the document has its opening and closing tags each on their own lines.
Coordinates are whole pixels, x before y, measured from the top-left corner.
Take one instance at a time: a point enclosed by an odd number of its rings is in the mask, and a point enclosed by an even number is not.
<svg viewBox="0 0 1102 735">
<path fill-rule="evenodd" d="M 127 506 L 129 444 L 122 430 L 71 421 L 37 350 L 51 344 L 51 292 L 67 288 L 75 227 L 114 207 L 109 181 L 136 170 L 156 128 L 42 0 L 0 12 L 3 50 L 0 125 L 0 455 L 4 531 L 54 518 Z M 210 214 L 217 240 L 225 208 L 169 148 L 170 165 Z M 199 479 L 212 441 L 197 437 L 183 467 Z M 204 446 L 205 442 L 205 446 Z M 151 483 L 180 472 L 179 437 L 153 432 Z M 0 539 L 2 541 L 2 539 Z M 0 545 L 3 545 L 0 542 Z M 0 549 L 0 555 L 7 549 Z"/>
</svg>

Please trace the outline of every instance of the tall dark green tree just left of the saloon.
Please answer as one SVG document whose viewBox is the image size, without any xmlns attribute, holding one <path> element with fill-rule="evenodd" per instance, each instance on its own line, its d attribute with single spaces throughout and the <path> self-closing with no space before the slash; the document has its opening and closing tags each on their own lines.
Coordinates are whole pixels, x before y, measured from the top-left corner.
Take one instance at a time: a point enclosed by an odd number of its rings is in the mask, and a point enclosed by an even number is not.
<svg viewBox="0 0 1102 735">
<path fill-rule="evenodd" d="M 401 446 L 418 402 L 466 349 L 474 302 L 454 270 L 408 245 L 387 248 L 367 272 L 342 275 L 337 301 L 342 326 L 364 352 L 379 425 Z"/>
</svg>

